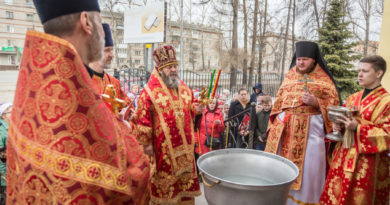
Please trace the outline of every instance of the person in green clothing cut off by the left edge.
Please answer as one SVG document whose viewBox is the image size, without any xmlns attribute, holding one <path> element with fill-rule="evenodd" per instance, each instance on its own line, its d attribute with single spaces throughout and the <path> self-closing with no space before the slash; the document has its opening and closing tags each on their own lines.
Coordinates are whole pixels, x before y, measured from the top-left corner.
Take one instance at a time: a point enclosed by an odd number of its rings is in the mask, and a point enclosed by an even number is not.
<svg viewBox="0 0 390 205">
<path fill-rule="evenodd" d="M 5 157 L 5 149 L 7 147 L 8 126 L 11 120 L 11 103 L 4 103 L 0 105 L 0 173 L 1 173 L 1 190 L 0 193 L 5 197 L 5 188 L 7 186 L 6 174 L 7 165 Z M 4 195 L 3 195 L 4 193 Z M 5 200 L 5 198 L 4 198 Z"/>
</svg>

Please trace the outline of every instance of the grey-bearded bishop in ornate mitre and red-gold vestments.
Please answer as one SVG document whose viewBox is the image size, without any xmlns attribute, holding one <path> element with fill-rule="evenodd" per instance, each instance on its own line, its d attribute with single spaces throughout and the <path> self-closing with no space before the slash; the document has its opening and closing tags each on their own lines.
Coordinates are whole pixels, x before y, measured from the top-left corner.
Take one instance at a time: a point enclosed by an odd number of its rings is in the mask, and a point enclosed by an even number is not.
<svg viewBox="0 0 390 205">
<path fill-rule="evenodd" d="M 153 52 L 156 68 L 138 98 L 134 114 L 137 139 L 155 161 L 151 204 L 194 204 L 200 195 L 194 160 L 196 99 L 178 77 L 175 50 Z"/>
</svg>

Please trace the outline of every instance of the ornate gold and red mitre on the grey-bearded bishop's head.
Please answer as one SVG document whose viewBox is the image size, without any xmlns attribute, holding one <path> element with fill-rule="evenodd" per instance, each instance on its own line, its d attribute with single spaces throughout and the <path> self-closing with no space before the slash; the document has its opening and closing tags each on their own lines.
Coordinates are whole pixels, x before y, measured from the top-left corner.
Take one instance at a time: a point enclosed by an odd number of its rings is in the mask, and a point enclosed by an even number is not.
<svg viewBox="0 0 390 205">
<path fill-rule="evenodd" d="M 170 65 L 177 65 L 176 52 L 171 45 L 156 48 L 153 52 L 153 59 L 156 63 L 157 70 Z"/>
</svg>

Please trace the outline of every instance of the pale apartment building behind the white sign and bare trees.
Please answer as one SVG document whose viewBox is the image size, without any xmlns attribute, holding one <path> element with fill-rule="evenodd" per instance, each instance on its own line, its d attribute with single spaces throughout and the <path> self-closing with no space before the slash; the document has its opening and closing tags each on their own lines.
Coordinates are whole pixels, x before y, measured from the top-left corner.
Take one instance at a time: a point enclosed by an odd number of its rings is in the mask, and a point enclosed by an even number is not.
<svg viewBox="0 0 390 205">
<path fill-rule="evenodd" d="M 115 41 L 116 68 L 153 68 L 152 51 L 163 44 L 175 47 L 176 57 L 180 60 L 180 23 L 166 23 L 166 37 L 163 43 L 124 44 L 123 13 L 102 11 L 103 22 L 110 24 Z M 185 23 L 183 26 L 183 68 L 184 70 L 208 70 L 221 66 L 223 34 L 215 28 L 199 24 Z"/>
</svg>

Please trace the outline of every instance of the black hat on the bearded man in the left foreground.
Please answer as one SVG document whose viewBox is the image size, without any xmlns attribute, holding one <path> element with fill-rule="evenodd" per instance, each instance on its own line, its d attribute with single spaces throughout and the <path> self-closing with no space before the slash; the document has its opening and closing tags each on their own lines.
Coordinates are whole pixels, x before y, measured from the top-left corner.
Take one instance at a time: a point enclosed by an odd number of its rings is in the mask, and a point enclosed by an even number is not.
<svg viewBox="0 0 390 205">
<path fill-rule="evenodd" d="M 100 12 L 98 0 L 34 0 L 34 5 L 42 23 L 82 11 Z"/>
</svg>

